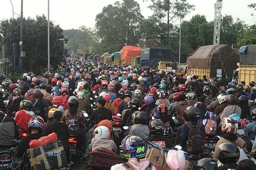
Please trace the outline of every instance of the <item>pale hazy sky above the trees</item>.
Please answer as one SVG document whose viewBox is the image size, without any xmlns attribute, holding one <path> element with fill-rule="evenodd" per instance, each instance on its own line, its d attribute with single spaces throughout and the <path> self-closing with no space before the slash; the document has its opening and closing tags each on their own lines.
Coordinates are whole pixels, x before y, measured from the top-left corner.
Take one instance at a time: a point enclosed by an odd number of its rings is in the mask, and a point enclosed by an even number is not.
<svg viewBox="0 0 256 170">
<path fill-rule="evenodd" d="M 11 0 L 14 4 L 14 12 L 20 13 L 21 0 Z M 152 11 L 147 8 L 150 2 L 136 0 L 140 4 L 140 9 L 144 17 L 152 15 Z M 194 4 L 196 10 L 190 13 L 185 19 L 190 19 L 193 15 L 205 15 L 208 21 L 214 19 L 214 3 L 217 0 L 187 0 Z M 85 25 L 93 27 L 95 17 L 108 4 L 113 4 L 116 0 L 50 0 L 50 20 L 59 24 L 63 29 L 77 29 Z M 251 13 L 256 11 L 247 8 L 248 4 L 255 3 L 256 0 L 223 0 L 222 15 L 232 15 L 233 18 L 240 18 L 246 24 L 253 24 L 256 17 Z M 24 17 L 35 17 L 36 15 L 47 14 L 48 0 L 23 0 Z M 12 8 L 10 0 L 0 0 L 0 20 L 11 18 Z M 18 15 L 14 15 L 15 18 Z"/>
</svg>

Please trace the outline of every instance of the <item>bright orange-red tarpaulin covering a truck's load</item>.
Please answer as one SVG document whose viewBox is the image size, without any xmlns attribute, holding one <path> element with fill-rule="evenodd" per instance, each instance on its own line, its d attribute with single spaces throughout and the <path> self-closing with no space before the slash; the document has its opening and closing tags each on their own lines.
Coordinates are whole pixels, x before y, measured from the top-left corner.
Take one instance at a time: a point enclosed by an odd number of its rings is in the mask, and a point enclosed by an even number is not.
<svg viewBox="0 0 256 170">
<path fill-rule="evenodd" d="M 120 51 L 121 61 L 126 60 L 126 63 L 131 62 L 131 57 L 142 55 L 142 48 L 135 46 L 124 46 Z"/>
</svg>

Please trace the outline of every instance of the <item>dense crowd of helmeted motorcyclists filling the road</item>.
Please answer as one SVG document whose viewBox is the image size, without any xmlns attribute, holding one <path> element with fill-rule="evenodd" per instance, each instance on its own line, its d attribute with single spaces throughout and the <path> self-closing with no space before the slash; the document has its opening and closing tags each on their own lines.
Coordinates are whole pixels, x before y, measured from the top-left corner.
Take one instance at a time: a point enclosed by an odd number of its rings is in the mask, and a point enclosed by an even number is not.
<svg viewBox="0 0 256 170">
<path fill-rule="evenodd" d="M 0 147 L 21 139 L 16 157 L 29 167 L 29 141 L 55 132 L 69 162 L 76 135 L 83 155 L 104 147 L 127 159 L 112 169 L 156 169 L 145 158 L 148 141 L 180 145 L 197 169 L 255 169 L 255 82 L 207 78 L 73 58 L 43 76 L 24 73 L 14 82 L 0 75 Z M 213 151 L 206 155 L 207 142 Z"/>
</svg>

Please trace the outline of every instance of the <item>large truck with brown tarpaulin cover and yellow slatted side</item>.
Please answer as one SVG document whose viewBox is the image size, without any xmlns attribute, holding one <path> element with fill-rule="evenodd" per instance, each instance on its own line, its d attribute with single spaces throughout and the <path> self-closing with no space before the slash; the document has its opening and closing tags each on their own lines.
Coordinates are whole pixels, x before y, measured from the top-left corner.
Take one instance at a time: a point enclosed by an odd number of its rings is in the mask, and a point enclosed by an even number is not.
<svg viewBox="0 0 256 170">
<path fill-rule="evenodd" d="M 188 58 L 187 74 L 198 75 L 203 79 L 213 77 L 223 77 L 226 82 L 232 80 L 233 73 L 237 69 L 239 54 L 229 45 L 207 45 L 198 50 Z"/>
</svg>

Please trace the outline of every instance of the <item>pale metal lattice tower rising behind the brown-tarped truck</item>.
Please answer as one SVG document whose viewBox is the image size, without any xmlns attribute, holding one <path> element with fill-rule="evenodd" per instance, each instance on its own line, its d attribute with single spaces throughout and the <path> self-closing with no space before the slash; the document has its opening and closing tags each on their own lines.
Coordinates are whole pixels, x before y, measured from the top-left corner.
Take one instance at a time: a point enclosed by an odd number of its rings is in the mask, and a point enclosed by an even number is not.
<svg viewBox="0 0 256 170">
<path fill-rule="evenodd" d="M 222 0 L 217 0 L 214 4 L 214 32 L 213 32 L 213 45 L 220 44 L 220 25 L 221 25 L 221 8 Z"/>
</svg>

